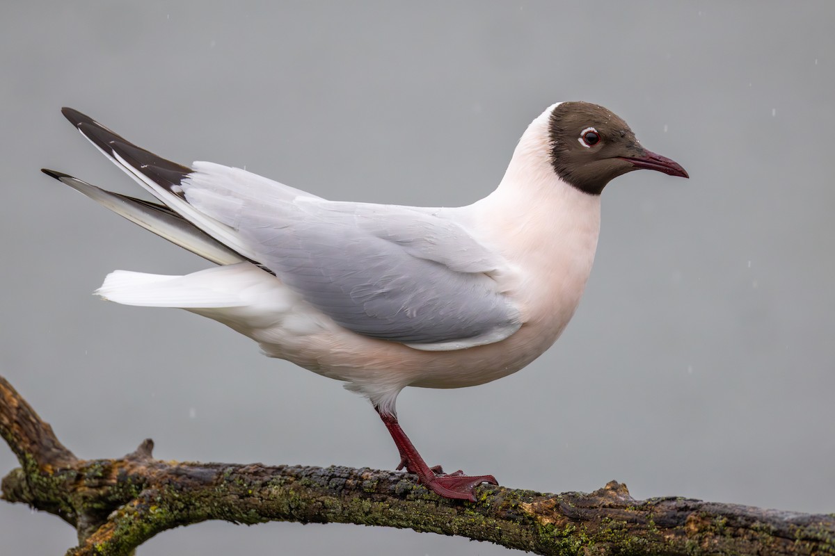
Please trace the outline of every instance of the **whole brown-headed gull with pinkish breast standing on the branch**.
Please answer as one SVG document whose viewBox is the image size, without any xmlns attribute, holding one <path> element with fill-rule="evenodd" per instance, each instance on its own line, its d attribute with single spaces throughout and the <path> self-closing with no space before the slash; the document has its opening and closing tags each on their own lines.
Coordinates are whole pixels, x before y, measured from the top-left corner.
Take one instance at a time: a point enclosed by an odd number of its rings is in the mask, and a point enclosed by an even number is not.
<svg viewBox="0 0 835 556">
<path fill-rule="evenodd" d="M 430 468 L 397 421 L 397 394 L 488 383 L 534 361 L 577 308 L 606 184 L 641 168 L 688 178 L 615 113 L 584 102 L 547 108 L 498 188 L 458 208 L 329 201 L 240 168 L 187 167 L 62 112 L 159 203 L 44 173 L 217 265 L 185 276 L 117 270 L 100 297 L 212 318 L 269 357 L 343 381 L 382 418 L 398 470 L 470 501 L 496 479 Z"/>
</svg>

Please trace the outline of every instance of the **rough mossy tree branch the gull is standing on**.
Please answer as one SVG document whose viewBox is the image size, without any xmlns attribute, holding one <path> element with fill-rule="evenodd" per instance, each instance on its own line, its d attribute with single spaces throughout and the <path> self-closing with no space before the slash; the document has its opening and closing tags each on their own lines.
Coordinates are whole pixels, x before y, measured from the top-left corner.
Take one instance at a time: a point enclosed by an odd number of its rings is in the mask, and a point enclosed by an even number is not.
<svg viewBox="0 0 835 556">
<path fill-rule="evenodd" d="M 478 502 L 438 498 L 407 473 L 261 464 L 178 463 L 145 440 L 124 458 L 81 460 L 0 377 L 0 435 L 21 468 L 3 498 L 78 530 L 68 554 L 129 554 L 167 529 L 233 523 L 357 523 L 459 535 L 539 554 L 833 554 L 835 514 L 687 498 L 635 500 L 612 481 L 594 493 L 483 485 Z"/>
</svg>

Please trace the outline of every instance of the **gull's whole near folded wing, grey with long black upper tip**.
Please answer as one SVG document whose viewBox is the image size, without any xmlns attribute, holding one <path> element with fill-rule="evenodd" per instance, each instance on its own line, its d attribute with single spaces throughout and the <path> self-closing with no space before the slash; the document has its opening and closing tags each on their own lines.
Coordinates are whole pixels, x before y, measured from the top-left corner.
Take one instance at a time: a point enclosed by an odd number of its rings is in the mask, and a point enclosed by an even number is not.
<svg viewBox="0 0 835 556">
<path fill-rule="evenodd" d="M 171 211 L 275 273 L 344 328 L 446 350 L 498 342 L 521 326 L 491 278 L 507 263 L 448 216 L 326 201 L 214 163 L 187 168 L 81 113 L 65 108 L 64 115 Z"/>
</svg>

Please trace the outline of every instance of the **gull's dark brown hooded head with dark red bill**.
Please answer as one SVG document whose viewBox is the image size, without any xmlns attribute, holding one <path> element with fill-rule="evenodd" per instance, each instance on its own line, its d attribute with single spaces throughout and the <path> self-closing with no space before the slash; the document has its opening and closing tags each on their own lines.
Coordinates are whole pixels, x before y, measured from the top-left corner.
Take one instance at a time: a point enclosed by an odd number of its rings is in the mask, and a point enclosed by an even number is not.
<svg viewBox="0 0 835 556">
<path fill-rule="evenodd" d="M 548 129 L 554 171 L 585 193 L 600 195 L 612 179 L 632 170 L 689 178 L 678 163 L 641 147 L 629 125 L 598 104 L 559 103 Z"/>
</svg>

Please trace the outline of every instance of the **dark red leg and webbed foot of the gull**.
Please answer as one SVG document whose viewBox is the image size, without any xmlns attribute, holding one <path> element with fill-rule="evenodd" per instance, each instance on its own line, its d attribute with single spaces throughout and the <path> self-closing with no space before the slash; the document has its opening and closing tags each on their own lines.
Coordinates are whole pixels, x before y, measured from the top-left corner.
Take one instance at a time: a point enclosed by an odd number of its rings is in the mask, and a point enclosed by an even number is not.
<svg viewBox="0 0 835 556">
<path fill-rule="evenodd" d="M 481 483 L 498 484 L 493 475 L 478 475 L 469 477 L 464 475 L 461 471 L 450 473 L 448 475 L 442 474 L 440 466 L 430 468 L 417 449 L 412 444 L 412 441 L 400 428 L 400 423 L 397 423 L 397 417 L 388 413 L 382 413 L 378 408 L 377 413 L 380 414 L 382 422 L 385 423 L 388 432 L 391 433 L 394 443 L 397 444 L 397 451 L 400 452 L 400 465 L 397 469 L 406 468 L 409 473 L 415 473 L 417 480 L 431 489 L 433 493 L 443 496 L 444 498 L 454 498 L 458 500 L 469 500 L 475 502 L 473 496 L 473 488 Z"/>
</svg>

